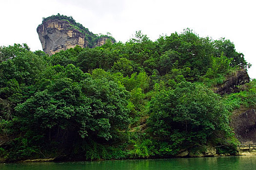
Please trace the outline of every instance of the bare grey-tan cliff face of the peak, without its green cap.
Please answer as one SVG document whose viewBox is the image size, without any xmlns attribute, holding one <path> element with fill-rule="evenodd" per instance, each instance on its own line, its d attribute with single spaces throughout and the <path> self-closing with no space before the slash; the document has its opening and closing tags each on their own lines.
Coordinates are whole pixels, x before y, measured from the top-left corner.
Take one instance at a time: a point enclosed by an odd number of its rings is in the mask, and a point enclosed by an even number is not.
<svg viewBox="0 0 256 170">
<path fill-rule="evenodd" d="M 37 32 L 43 51 L 49 55 L 74 48 L 76 45 L 83 48 L 89 46 L 85 34 L 66 20 L 47 20 L 38 26 Z M 104 45 L 107 39 L 100 37 L 93 47 Z"/>
</svg>

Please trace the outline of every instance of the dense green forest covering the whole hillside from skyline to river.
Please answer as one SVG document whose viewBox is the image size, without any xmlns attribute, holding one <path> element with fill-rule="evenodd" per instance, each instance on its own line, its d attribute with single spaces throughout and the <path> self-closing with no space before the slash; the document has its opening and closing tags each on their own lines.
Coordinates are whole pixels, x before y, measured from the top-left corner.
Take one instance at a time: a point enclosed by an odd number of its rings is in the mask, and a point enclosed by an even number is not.
<svg viewBox="0 0 256 170">
<path fill-rule="evenodd" d="M 256 80 L 222 96 L 213 88 L 248 67 L 230 40 L 190 29 L 52 56 L 0 47 L 0 158 L 159 158 L 208 145 L 236 153 L 229 117 L 255 105 Z"/>
</svg>

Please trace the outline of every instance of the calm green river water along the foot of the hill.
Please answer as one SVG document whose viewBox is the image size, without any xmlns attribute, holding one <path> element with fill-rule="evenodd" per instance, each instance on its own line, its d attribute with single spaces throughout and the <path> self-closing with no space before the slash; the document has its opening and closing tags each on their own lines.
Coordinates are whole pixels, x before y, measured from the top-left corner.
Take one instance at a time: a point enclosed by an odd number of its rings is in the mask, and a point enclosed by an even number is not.
<svg viewBox="0 0 256 170">
<path fill-rule="evenodd" d="M 256 170 L 256 156 L 6 163 L 0 170 Z"/>
</svg>

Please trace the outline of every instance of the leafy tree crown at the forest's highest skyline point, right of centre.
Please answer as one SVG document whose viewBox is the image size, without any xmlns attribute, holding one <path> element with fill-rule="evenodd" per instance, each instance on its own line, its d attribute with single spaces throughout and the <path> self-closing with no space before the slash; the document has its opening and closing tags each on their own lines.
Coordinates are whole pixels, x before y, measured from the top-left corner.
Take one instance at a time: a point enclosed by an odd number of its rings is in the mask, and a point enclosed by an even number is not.
<svg viewBox="0 0 256 170">
<path fill-rule="evenodd" d="M 190 77 L 197 80 L 210 66 L 214 50 L 211 40 L 200 38 L 190 29 L 184 30 L 182 34 L 160 37 L 158 43 L 163 53 L 160 67 L 163 66 L 164 72 L 169 71 L 171 67 L 191 68 Z"/>
</svg>

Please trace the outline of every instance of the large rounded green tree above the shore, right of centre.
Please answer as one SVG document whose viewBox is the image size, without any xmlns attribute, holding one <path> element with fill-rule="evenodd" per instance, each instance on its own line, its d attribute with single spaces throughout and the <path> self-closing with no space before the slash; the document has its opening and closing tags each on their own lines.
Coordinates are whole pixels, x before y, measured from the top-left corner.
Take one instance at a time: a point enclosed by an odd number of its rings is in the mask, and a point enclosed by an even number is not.
<svg viewBox="0 0 256 170">
<path fill-rule="evenodd" d="M 174 149 L 206 144 L 217 131 L 231 132 L 219 97 L 200 84 L 181 82 L 174 90 L 159 91 L 150 102 L 150 132 Z"/>
</svg>

